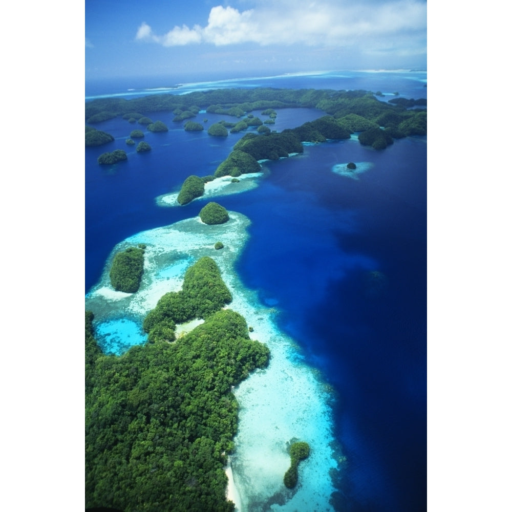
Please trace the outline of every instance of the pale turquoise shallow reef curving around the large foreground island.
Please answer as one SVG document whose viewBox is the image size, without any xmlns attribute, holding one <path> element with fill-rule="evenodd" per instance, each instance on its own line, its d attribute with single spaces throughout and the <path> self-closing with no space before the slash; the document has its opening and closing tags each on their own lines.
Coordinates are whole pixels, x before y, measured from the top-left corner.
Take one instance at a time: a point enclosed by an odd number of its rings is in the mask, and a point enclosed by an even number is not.
<svg viewBox="0 0 512 512">
<path fill-rule="evenodd" d="M 99 283 L 86 296 L 86 309 L 99 322 L 123 314 L 142 320 L 164 293 L 181 289 L 189 265 L 206 255 L 215 260 L 233 296 L 228 307 L 244 316 L 253 328 L 250 337 L 271 353 L 268 368 L 253 372 L 233 390 L 239 425 L 226 470 L 230 499 L 238 512 L 333 511 L 329 500 L 335 488 L 329 472 L 338 468 L 340 457 L 332 433 L 333 392 L 318 371 L 304 364 L 294 340 L 276 327 L 278 310 L 262 305 L 258 293 L 245 288 L 234 270 L 249 224 L 244 215 L 229 211 L 225 224 L 207 225 L 195 217 L 127 238 L 114 248 Z M 217 241 L 223 249 L 214 248 Z M 137 244 L 146 245 L 141 286 L 136 293 L 120 294 L 110 285 L 112 259 Z M 294 441 L 306 441 L 311 452 L 298 467 L 297 486 L 287 489 L 287 448 Z"/>
</svg>

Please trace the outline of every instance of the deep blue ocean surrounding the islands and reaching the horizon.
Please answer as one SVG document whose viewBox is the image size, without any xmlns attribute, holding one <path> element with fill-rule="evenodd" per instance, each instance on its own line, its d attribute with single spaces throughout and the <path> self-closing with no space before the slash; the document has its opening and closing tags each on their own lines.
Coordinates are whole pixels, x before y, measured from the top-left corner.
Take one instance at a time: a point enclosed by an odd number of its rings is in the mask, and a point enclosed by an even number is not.
<svg viewBox="0 0 512 512">
<path fill-rule="evenodd" d="M 119 95 L 185 94 L 224 87 L 364 89 L 383 101 L 426 98 L 426 72 L 337 72 L 196 81 L 118 79 L 86 83 L 86 101 Z M 254 113 L 257 115 L 257 113 Z M 274 130 L 324 115 L 278 111 Z M 225 118 L 199 114 L 208 123 Z M 167 133 L 145 134 L 152 151 L 125 143 L 120 118 L 95 124 L 115 141 L 87 147 L 86 293 L 116 244 L 135 233 L 198 215 L 207 199 L 162 208 L 191 174 L 214 174 L 244 133 L 214 140 L 153 113 Z M 128 160 L 100 166 L 105 151 Z M 243 284 L 276 307 L 280 329 L 335 392 L 333 431 L 347 457 L 335 482 L 349 512 L 426 510 L 426 137 L 395 140 L 383 151 L 357 139 L 306 145 L 265 162 L 257 188 L 219 199 L 247 216 L 249 240 L 237 262 Z M 356 162 L 354 176 L 340 164 Z M 137 343 L 140 339 L 137 338 Z"/>
</svg>

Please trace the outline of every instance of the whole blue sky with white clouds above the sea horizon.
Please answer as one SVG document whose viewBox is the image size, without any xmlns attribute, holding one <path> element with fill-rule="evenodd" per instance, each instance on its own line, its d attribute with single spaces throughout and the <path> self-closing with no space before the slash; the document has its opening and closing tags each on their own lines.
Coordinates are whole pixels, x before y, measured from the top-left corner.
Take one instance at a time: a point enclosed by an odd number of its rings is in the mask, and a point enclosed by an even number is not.
<svg viewBox="0 0 512 512">
<path fill-rule="evenodd" d="M 426 69 L 424 0 L 86 0 L 86 79 Z"/>
</svg>

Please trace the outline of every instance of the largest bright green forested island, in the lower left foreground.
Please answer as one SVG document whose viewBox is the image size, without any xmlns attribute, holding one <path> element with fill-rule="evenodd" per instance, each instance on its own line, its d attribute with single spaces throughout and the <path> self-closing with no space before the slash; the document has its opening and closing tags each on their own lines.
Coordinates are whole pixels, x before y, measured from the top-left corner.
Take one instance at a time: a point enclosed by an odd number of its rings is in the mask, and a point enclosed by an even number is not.
<svg viewBox="0 0 512 512">
<path fill-rule="evenodd" d="M 269 351 L 240 314 L 220 309 L 231 295 L 210 258 L 166 295 L 144 321 L 149 343 L 120 357 L 102 354 L 86 312 L 86 508 L 234 510 L 224 472 L 237 429 L 231 389 Z M 193 317 L 204 323 L 174 340 L 172 326 Z"/>
</svg>

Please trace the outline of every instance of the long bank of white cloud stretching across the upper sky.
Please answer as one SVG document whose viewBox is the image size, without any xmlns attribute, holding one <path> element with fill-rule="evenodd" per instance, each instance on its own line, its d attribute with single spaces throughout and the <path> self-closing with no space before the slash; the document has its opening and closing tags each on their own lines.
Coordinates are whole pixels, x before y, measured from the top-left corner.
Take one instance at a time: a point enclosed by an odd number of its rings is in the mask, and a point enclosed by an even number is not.
<svg viewBox="0 0 512 512">
<path fill-rule="evenodd" d="M 298 0 L 255 2 L 240 12 L 227 6 L 210 10 L 208 24 L 174 27 L 157 36 L 143 23 L 137 39 L 163 46 L 200 42 L 215 46 L 253 42 L 261 46 L 303 44 L 307 46 L 354 46 L 371 49 L 396 38 L 403 48 L 425 46 L 426 2 L 424 0 L 323 0 L 304 5 Z"/>
</svg>

